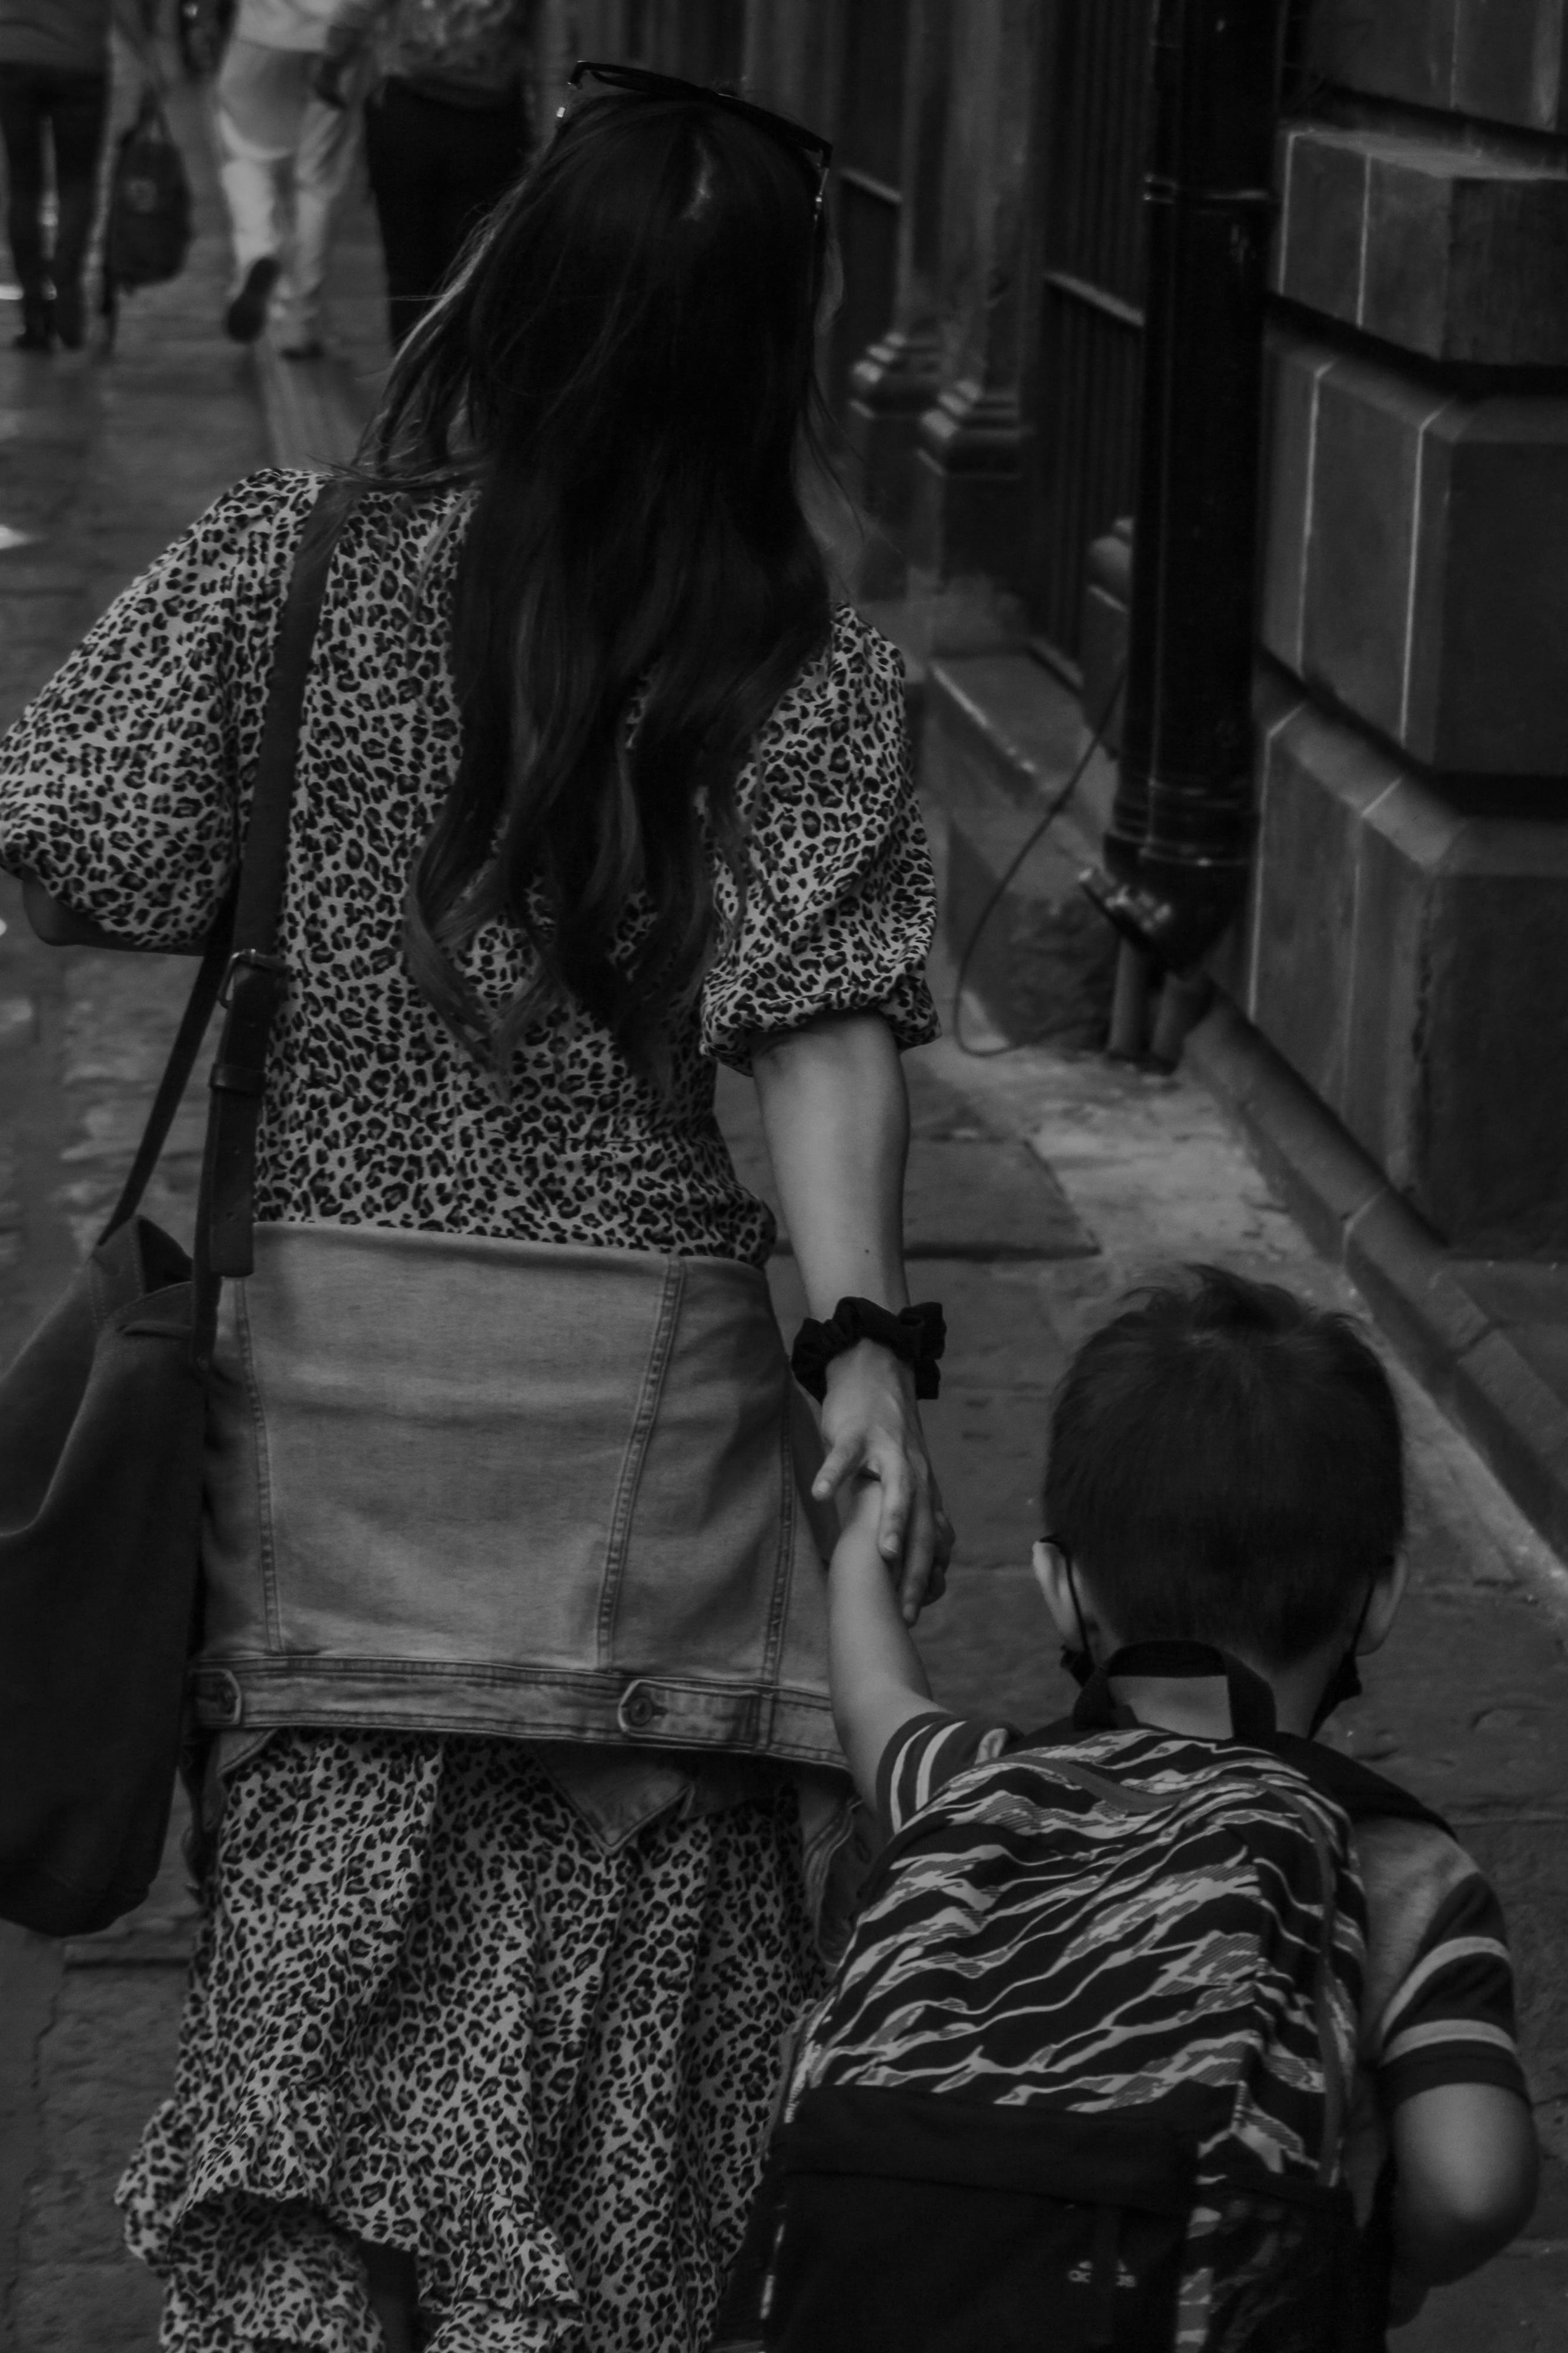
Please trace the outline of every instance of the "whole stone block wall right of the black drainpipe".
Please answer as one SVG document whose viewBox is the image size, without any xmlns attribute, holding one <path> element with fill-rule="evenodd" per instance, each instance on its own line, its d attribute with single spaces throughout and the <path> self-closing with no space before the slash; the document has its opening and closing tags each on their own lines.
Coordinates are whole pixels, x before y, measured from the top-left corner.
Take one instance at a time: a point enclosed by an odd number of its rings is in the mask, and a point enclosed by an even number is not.
<svg viewBox="0 0 1568 2353">
<path fill-rule="evenodd" d="M 1279 144 L 1244 1009 L 1458 1247 L 1568 1249 L 1568 0 L 1316 0 Z"/>
</svg>

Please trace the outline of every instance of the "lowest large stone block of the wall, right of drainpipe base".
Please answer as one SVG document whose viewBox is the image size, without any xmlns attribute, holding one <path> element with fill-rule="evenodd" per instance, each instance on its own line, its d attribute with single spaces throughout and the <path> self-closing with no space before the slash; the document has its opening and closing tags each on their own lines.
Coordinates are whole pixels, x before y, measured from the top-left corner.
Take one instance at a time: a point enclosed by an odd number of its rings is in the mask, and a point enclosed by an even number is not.
<svg viewBox="0 0 1568 2353">
<path fill-rule="evenodd" d="M 1568 826 L 1458 807 L 1293 682 L 1262 713 L 1244 1012 L 1439 1231 L 1561 1247 Z"/>
</svg>

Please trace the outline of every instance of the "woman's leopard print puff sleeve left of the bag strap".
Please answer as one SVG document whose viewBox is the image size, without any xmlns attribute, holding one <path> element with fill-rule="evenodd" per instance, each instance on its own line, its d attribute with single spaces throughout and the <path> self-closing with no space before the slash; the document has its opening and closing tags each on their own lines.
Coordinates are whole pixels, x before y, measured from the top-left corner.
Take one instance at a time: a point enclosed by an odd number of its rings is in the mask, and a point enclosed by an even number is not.
<svg viewBox="0 0 1568 2353">
<path fill-rule="evenodd" d="M 0 866 L 141 948 L 212 925 L 240 854 L 308 475 L 226 492 L 115 598 L 0 744 Z"/>
</svg>

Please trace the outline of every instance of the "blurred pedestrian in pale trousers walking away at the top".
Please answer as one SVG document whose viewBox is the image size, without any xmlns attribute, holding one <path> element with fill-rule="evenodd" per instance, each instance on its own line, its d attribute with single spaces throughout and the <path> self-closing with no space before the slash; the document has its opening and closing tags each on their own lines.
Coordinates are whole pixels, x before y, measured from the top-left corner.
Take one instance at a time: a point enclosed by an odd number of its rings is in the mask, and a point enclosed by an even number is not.
<svg viewBox="0 0 1568 2353">
<path fill-rule="evenodd" d="M 360 111 L 327 106 L 310 78 L 334 0 L 240 0 L 216 82 L 219 179 L 235 240 L 223 329 L 254 344 L 275 301 L 287 360 L 322 351 L 331 214 L 348 181 Z"/>
</svg>

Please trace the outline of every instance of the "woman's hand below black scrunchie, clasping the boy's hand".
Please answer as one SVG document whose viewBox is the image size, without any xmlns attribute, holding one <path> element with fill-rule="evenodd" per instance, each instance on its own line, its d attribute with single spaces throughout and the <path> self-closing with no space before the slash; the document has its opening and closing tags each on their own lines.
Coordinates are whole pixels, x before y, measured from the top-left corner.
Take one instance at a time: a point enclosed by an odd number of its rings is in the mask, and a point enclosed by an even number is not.
<svg viewBox="0 0 1568 2353">
<path fill-rule="evenodd" d="M 811 1487 L 818 1501 L 832 1501 L 858 1475 L 875 1478 L 882 1487 L 877 1551 L 889 1567 L 903 1562 L 898 1607 L 905 1626 L 912 1626 L 947 1584 L 952 1522 L 926 1454 L 914 1379 L 891 1348 L 863 1339 L 858 1348 L 832 1358 L 823 1445 L 827 1459 Z"/>
</svg>

